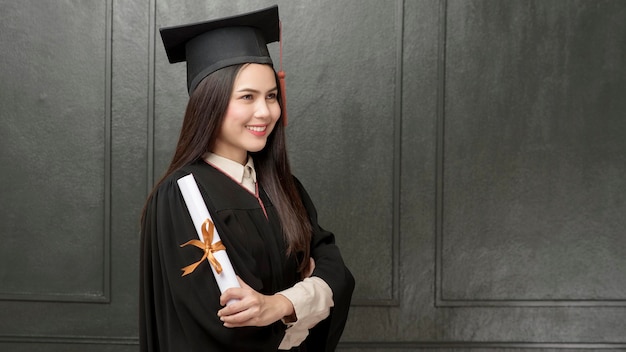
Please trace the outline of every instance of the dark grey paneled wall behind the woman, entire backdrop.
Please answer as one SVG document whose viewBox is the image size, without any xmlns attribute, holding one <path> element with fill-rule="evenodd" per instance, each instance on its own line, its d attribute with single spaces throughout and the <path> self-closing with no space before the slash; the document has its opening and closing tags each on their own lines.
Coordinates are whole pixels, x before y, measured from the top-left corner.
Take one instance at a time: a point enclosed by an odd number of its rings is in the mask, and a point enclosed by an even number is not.
<svg viewBox="0 0 626 352">
<path fill-rule="evenodd" d="M 1 350 L 137 350 L 187 98 L 156 29 L 276 2 L 341 350 L 626 349 L 626 2 L 2 0 Z"/>
</svg>

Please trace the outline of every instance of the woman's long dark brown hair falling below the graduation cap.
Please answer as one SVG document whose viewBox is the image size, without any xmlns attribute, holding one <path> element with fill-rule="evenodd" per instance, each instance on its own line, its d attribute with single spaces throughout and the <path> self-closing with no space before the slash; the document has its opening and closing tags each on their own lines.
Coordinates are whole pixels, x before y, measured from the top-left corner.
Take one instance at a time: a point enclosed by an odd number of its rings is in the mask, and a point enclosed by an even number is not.
<svg viewBox="0 0 626 352">
<path fill-rule="evenodd" d="M 189 97 L 176 151 L 167 171 L 148 196 L 142 211 L 142 224 L 147 204 L 156 188 L 172 173 L 202 159 L 203 155 L 213 150 L 226 115 L 235 79 L 245 65 L 228 66 L 211 73 L 200 82 Z M 278 100 L 282 106 L 280 85 L 276 74 L 275 77 L 279 90 Z M 251 155 L 254 159 L 257 180 L 263 185 L 263 189 L 277 210 L 287 243 L 286 255 L 294 255 L 300 260 L 298 271 L 305 273 L 309 269 L 313 230 L 291 175 L 282 115 L 268 137 L 265 148 Z"/>
</svg>

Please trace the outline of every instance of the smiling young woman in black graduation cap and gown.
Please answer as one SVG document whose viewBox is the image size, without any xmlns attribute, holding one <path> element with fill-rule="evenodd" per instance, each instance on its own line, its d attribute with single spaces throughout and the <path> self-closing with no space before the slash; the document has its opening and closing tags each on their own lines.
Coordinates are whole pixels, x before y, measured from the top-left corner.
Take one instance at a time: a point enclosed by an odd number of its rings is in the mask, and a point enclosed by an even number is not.
<svg viewBox="0 0 626 352">
<path fill-rule="evenodd" d="M 142 351 L 333 351 L 354 279 L 292 176 L 266 44 L 278 9 L 161 31 L 190 99 L 172 162 L 142 214 Z M 177 180 L 193 174 L 237 274 L 221 293 Z M 226 305 L 227 302 L 232 302 Z"/>
</svg>

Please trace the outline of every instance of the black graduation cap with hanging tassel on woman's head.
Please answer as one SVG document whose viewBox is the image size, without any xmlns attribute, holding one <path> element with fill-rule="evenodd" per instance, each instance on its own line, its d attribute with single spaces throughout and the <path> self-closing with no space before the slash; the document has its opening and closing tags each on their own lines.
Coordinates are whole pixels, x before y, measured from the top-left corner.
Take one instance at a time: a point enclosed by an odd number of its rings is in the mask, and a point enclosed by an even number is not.
<svg viewBox="0 0 626 352">
<path fill-rule="evenodd" d="M 232 65 L 272 65 L 268 43 L 281 40 L 278 6 L 216 20 L 161 28 L 161 39 L 170 63 L 187 62 L 189 94 L 209 74 Z M 283 123 L 286 123 L 285 74 L 278 72 L 283 94 Z"/>
</svg>

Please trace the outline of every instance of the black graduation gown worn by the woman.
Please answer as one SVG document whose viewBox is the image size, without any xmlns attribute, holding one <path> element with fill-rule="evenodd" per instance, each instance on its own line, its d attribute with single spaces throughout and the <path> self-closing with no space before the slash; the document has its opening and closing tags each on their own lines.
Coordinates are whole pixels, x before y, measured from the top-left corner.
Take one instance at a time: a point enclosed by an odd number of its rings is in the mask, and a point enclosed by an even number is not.
<svg viewBox="0 0 626 352">
<path fill-rule="evenodd" d="M 193 273 L 202 250 L 180 245 L 198 239 L 176 180 L 193 173 L 235 272 L 263 294 L 299 281 L 296 261 L 287 257 L 276 210 L 259 185 L 267 217 L 257 198 L 214 167 L 200 161 L 167 178 L 155 191 L 141 233 L 140 345 L 142 351 L 276 351 L 285 326 L 225 328 L 217 317 L 220 291 L 205 260 Z M 311 199 L 299 182 L 313 225 L 314 276 L 333 291 L 331 314 L 309 332 L 307 351 L 334 351 L 345 326 L 354 279 L 335 245 L 334 235 L 317 224 Z"/>
</svg>

